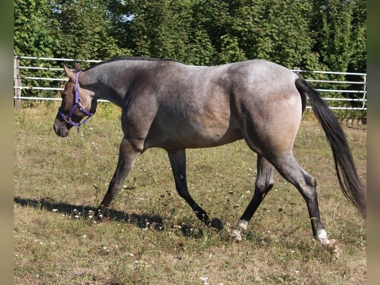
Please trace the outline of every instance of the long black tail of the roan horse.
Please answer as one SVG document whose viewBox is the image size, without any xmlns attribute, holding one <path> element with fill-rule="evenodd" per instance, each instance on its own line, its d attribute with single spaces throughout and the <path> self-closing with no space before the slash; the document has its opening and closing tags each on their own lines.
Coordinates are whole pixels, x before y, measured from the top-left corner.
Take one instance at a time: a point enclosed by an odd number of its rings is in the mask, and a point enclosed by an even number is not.
<svg viewBox="0 0 380 285">
<path fill-rule="evenodd" d="M 330 143 L 334 157 L 335 169 L 340 189 L 344 196 L 350 200 L 367 217 L 367 194 L 363 182 L 356 171 L 354 159 L 342 128 L 334 113 L 328 108 L 320 94 L 305 79 L 297 78 L 296 87 L 301 96 L 309 96 L 310 103 L 327 140 Z"/>
</svg>

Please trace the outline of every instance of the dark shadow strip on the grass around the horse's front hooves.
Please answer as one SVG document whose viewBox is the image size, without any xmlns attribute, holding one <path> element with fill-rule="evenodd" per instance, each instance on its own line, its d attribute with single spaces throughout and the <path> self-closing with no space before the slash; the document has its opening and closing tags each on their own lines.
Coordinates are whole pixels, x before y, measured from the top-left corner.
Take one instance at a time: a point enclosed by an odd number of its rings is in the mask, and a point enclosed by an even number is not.
<svg viewBox="0 0 380 285">
<path fill-rule="evenodd" d="M 33 207 L 36 209 L 45 209 L 49 212 L 58 212 L 60 214 L 72 215 L 77 214 L 81 215 L 83 218 L 89 218 L 89 213 L 95 213 L 97 208 L 84 205 L 72 205 L 63 202 L 55 202 L 53 199 L 47 197 L 40 200 L 35 199 L 23 199 L 20 197 L 14 197 L 13 202 L 22 206 L 22 207 Z M 133 224 L 140 228 L 149 227 L 156 231 L 165 230 L 168 227 L 176 227 L 173 223 L 164 222 L 164 218 L 160 215 L 149 215 L 149 214 L 127 214 L 118 210 L 109 210 L 109 216 L 112 217 L 112 220 L 117 220 L 118 222 L 125 222 L 128 224 Z M 91 219 L 89 219 L 91 220 Z M 102 222 L 101 220 L 97 222 Z M 192 230 L 193 226 L 188 224 L 181 224 L 181 231 L 185 236 L 199 238 L 203 235 L 203 228 L 198 228 L 196 231 Z"/>
</svg>

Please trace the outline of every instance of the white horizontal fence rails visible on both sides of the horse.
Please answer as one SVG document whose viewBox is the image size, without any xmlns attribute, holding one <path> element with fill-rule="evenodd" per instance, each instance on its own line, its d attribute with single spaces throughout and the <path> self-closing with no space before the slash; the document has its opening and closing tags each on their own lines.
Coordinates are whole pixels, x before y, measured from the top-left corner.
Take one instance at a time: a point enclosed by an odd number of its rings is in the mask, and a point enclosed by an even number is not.
<svg viewBox="0 0 380 285">
<path fill-rule="evenodd" d="M 79 62 L 79 63 L 99 63 L 101 61 L 98 60 L 74 60 L 74 59 L 60 59 L 60 58 L 38 58 L 38 57 L 26 57 L 26 56 L 14 56 L 14 100 L 15 100 L 15 107 L 20 107 L 21 100 L 62 100 L 60 96 L 58 96 L 59 91 L 63 90 L 63 84 L 67 80 L 65 78 L 62 78 L 60 76 L 63 75 L 63 68 L 54 68 L 54 67 L 46 67 L 46 66 L 22 66 L 20 65 L 20 62 L 22 63 L 23 60 L 31 60 L 31 61 L 46 61 L 48 64 L 49 62 Z M 57 73 L 57 77 L 42 77 L 42 76 L 23 76 L 21 73 L 24 70 L 35 70 L 37 73 L 38 71 L 48 72 L 48 71 L 55 71 Z M 21 72 L 20 72 L 21 71 Z M 292 70 L 296 73 L 308 73 L 308 74 L 315 74 L 317 77 L 317 74 L 341 74 L 341 75 L 353 75 L 355 78 L 358 78 L 357 81 L 344 81 L 344 80 L 323 80 L 323 79 L 307 79 L 307 81 L 311 83 L 327 83 L 329 89 L 321 88 L 317 90 L 321 92 L 322 94 L 324 92 L 328 93 L 346 93 L 346 94 L 352 94 L 352 97 L 349 98 L 346 96 L 340 96 L 338 98 L 335 97 L 323 97 L 324 100 L 328 101 L 328 104 L 331 109 L 336 110 L 367 110 L 367 73 L 355 73 L 355 72 L 333 72 L 333 71 L 303 71 L 300 69 L 294 69 Z M 30 73 L 30 72 L 29 72 Z M 51 72 L 50 72 L 51 73 Z M 43 87 L 43 86 L 34 86 L 27 83 L 24 83 L 28 80 L 35 80 L 36 82 L 39 81 L 57 81 L 56 87 Z M 62 86 L 59 86 L 59 83 L 62 82 Z M 357 85 L 358 88 L 355 90 L 352 89 L 342 89 L 337 88 L 335 89 L 333 87 L 334 84 L 339 84 L 341 87 L 344 86 L 353 86 Z M 44 84 L 41 84 L 44 85 Z M 40 97 L 40 96 L 22 96 L 22 90 L 51 90 L 54 91 L 53 97 Z M 38 91 L 36 91 L 38 92 Z M 30 93 L 30 92 L 29 92 Z M 356 95 L 356 96 L 354 96 Z M 100 102 L 108 102 L 107 100 L 98 100 Z M 336 102 L 357 102 L 355 107 L 340 107 L 340 106 L 334 106 L 337 104 Z M 338 104 L 339 105 L 339 104 Z M 341 104 L 340 104 L 341 105 Z M 311 108 L 308 106 L 308 108 Z"/>
</svg>

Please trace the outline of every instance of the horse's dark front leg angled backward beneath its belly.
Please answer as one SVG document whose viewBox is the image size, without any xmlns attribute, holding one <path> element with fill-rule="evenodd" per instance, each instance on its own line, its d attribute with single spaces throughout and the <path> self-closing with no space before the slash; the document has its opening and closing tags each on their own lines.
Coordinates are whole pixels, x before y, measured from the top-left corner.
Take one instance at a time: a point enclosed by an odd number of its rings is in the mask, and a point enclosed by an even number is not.
<svg viewBox="0 0 380 285">
<path fill-rule="evenodd" d="M 203 221 L 208 226 L 214 226 L 218 229 L 222 227 L 220 224 L 213 224 L 208 218 L 206 212 L 195 203 L 189 193 L 188 183 L 186 180 L 186 152 L 185 149 L 168 149 L 168 156 L 172 166 L 174 180 L 176 182 L 176 189 L 178 194 L 185 199 L 190 205 L 192 211 L 196 214 L 197 218 Z"/>
</svg>

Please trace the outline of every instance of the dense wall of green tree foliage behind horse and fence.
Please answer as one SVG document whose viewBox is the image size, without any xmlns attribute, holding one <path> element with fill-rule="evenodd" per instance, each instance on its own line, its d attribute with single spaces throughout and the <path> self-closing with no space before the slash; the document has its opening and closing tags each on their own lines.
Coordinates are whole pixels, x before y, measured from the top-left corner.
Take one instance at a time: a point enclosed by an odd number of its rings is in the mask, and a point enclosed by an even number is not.
<svg viewBox="0 0 380 285">
<path fill-rule="evenodd" d="M 366 18 L 366 0 L 15 0 L 14 53 L 206 66 L 264 59 L 290 69 L 366 72 Z"/>
</svg>

